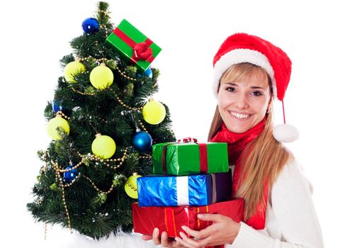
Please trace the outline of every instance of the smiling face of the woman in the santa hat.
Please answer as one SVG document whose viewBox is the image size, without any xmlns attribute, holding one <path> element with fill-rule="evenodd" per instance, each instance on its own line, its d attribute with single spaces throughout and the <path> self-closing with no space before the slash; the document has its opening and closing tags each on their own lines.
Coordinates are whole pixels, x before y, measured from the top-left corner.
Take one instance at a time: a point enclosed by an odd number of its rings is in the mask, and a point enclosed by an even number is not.
<svg viewBox="0 0 343 248">
<path fill-rule="evenodd" d="M 271 103 L 266 74 L 255 70 L 240 81 L 220 79 L 218 110 L 226 128 L 244 133 L 260 123 Z"/>
</svg>

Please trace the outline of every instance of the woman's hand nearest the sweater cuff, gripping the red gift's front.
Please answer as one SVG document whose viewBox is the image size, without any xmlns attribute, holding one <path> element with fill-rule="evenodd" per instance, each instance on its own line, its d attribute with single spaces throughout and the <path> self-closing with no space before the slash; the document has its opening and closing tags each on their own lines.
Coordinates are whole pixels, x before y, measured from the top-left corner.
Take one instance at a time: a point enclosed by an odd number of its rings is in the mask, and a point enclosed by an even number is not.
<svg viewBox="0 0 343 248">
<path fill-rule="evenodd" d="M 182 226 L 182 229 L 194 239 L 187 237 L 184 232 L 175 240 L 185 247 L 212 247 L 220 244 L 232 244 L 240 231 L 240 223 L 235 222 L 225 215 L 204 213 L 198 215 L 199 220 L 212 221 L 213 224 L 201 231 L 191 230 L 191 228 Z"/>
</svg>

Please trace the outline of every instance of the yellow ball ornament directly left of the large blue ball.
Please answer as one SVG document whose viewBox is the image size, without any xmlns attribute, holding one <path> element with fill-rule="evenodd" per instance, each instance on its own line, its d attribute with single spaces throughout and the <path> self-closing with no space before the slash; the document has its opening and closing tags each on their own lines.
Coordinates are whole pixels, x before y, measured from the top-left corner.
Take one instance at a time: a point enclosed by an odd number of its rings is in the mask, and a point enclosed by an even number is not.
<svg viewBox="0 0 343 248">
<path fill-rule="evenodd" d="M 111 137 L 98 133 L 91 143 L 91 152 L 101 159 L 109 159 L 116 152 L 116 142 Z"/>
</svg>

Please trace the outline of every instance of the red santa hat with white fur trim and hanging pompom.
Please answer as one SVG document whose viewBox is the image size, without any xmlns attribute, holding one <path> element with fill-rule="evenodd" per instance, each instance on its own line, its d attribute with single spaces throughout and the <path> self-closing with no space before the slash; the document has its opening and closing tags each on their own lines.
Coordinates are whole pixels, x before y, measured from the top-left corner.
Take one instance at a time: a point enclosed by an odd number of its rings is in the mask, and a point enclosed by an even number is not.
<svg viewBox="0 0 343 248">
<path fill-rule="evenodd" d="M 220 78 L 233 64 L 249 62 L 262 67 L 271 79 L 274 98 L 282 101 L 291 78 L 292 62 L 283 50 L 254 35 L 236 33 L 229 36 L 213 58 L 213 90 L 218 94 Z M 283 108 L 283 123 L 276 125 L 273 135 L 279 142 L 292 142 L 298 139 L 298 130 L 293 125 L 286 125 Z"/>
</svg>

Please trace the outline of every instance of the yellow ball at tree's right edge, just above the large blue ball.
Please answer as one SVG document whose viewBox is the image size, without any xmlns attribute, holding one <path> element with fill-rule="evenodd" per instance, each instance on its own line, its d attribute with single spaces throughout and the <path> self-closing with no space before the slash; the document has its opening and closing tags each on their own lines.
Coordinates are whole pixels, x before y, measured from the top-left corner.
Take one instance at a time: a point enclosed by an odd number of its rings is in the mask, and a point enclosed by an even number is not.
<svg viewBox="0 0 343 248">
<path fill-rule="evenodd" d="M 143 107 L 142 114 L 147 123 L 157 125 L 166 117 L 166 108 L 158 101 L 150 101 Z"/>
</svg>

